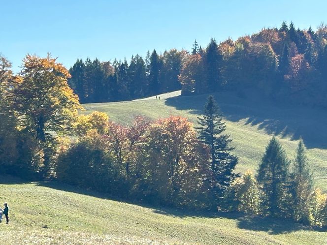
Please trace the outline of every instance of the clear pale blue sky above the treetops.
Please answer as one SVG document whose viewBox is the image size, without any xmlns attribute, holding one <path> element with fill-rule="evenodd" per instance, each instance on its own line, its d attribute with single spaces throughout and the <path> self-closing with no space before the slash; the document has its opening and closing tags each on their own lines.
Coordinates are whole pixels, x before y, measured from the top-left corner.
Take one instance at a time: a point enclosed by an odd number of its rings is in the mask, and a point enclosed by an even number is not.
<svg viewBox="0 0 327 245">
<path fill-rule="evenodd" d="M 315 29 L 327 22 L 326 0 L 0 0 L 0 53 L 14 71 L 27 53 L 50 52 L 69 68 L 77 58 L 130 60 L 154 48 L 190 50 L 196 39 L 279 27 Z"/>
</svg>

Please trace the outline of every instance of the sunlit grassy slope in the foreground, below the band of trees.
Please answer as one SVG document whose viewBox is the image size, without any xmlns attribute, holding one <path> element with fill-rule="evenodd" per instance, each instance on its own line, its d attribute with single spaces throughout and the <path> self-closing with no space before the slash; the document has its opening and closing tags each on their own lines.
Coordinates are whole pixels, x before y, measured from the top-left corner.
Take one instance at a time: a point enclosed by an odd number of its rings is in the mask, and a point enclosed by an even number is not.
<svg viewBox="0 0 327 245">
<path fill-rule="evenodd" d="M 292 222 L 145 208 L 61 184 L 0 176 L 11 221 L 4 244 L 326 244 L 326 230 Z"/>
</svg>

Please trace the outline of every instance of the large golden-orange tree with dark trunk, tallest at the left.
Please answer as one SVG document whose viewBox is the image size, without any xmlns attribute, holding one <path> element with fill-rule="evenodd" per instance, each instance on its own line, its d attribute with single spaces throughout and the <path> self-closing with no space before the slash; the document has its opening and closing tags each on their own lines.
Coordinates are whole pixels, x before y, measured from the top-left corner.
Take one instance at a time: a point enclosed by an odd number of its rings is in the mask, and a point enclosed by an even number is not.
<svg viewBox="0 0 327 245">
<path fill-rule="evenodd" d="M 70 134 L 80 108 L 69 88 L 67 69 L 48 55 L 27 55 L 13 85 L 13 107 L 18 126 L 42 145 L 45 171 L 49 171 L 50 146 L 57 135 Z"/>
</svg>

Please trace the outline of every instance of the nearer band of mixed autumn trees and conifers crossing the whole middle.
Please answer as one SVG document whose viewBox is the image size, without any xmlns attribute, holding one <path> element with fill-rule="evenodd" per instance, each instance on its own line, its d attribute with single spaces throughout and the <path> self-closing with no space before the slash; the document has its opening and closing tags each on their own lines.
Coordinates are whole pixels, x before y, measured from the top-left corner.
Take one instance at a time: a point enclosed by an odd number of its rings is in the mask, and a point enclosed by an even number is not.
<svg viewBox="0 0 327 245">
<path fill-rule="evenodd" d="M 133 202 L 327 225 L 327 194 L 314 187 L 302 141 L 291 162 L 273 137 L 258 173 L 240 175 L 212 96 L 196 127 L 175 116 L 125 126 L 104 113 L 78 115 L 70 74 L 51 56 L 26 56 L 17 75 L 10 66 L 0 58 L 1 173 Z"/>
</svg>

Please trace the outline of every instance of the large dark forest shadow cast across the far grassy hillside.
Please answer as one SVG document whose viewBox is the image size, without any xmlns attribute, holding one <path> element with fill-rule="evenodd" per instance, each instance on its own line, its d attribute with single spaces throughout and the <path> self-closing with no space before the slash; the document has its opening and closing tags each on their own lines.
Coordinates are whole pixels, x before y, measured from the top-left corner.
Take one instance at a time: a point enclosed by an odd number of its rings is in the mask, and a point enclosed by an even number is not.
<svg viewBox="0 0 327 245">
<path fill-rule="evenodd" d="M 177 110 L 201 115 L 209 94 L 167 98 L 165 104 Z M 258 127 L 267 134 L 298 140 L 308 149 L 327 149 L 327 110 L 276 103 L 258 95 L 240 97 L 235 92 L 213 94 L 226 120 Z"/>
</svg>

